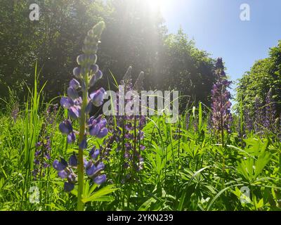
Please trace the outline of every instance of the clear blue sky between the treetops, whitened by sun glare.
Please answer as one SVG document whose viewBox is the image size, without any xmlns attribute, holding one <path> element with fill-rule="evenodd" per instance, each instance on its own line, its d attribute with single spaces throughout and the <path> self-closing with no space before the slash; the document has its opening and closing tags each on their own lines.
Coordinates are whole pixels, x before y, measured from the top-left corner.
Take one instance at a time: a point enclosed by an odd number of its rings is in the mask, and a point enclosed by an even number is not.
<svg viewBox="0 0 281 225">
<path fill-rule="evenodd" d="M 281 0 L 162 1 L 169 32 L 182 27 L 197 48 L 214 58 L 223 57 L 233 80 L 242 77 L 255 60 L 266 58 L 269 48 L 281 39 Z M 241 4 L 249 4 L 250 21 L 240 20 Z"/>
</svg>

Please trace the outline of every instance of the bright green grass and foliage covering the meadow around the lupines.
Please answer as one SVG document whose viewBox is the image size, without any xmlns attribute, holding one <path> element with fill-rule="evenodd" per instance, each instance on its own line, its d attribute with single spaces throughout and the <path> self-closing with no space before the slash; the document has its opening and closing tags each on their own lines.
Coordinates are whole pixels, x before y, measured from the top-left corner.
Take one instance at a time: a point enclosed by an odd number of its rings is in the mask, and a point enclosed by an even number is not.
<svg viewBox="0 0 281 225">
<path fill-rule="evenodd" d="M 3 101 L 0 210 L 76 208 L 77 193 L 63 191 L 63 181 L 52 167 L 44 171 L 45 176 L 32 179 L 34 149 L 40 136 L 51 137 L 50 165 L 60 156 L 68 158 L 77 151 L 58 131 L 63 110 L 52 115 L 53 124 L 46 122 L 46 108 L 52 103 L 42 103 L 41 91 L 35 82 L 15 121 L 11 117 L 14 94 Z M 209 130 L 208 118 L 209 109 L 201 103 L 194 113 L 187 109 L 176 124 L 166 124 L 165 116 L 149 117 L 141 141 L 146 147 L 142 153 L 145 165 L 135 174 L 137 181 L 121 182 L 123 156 L 114 143 L 105 167 L 106 184 L 98 187 L 85 181 L 85 210 L 280 210 L 281 146 L 275 134 L 261 136 L 246 131 L 247 137 L 240 139 L 233 131 L 222 146 L 220 137 Z M 237 117 L 233 127 L 239 127 L 239 120 L 242 126 L 243 119 Z M 103 146 L 103 141 L 91 140 L 89 149 L 94 144 Z M 36 198 L 34 187 L 39 191 L 38 203 L 30 202 Z M 240 201 L 242 187 L 250 191 L 247 203 Z"/>
</svg>

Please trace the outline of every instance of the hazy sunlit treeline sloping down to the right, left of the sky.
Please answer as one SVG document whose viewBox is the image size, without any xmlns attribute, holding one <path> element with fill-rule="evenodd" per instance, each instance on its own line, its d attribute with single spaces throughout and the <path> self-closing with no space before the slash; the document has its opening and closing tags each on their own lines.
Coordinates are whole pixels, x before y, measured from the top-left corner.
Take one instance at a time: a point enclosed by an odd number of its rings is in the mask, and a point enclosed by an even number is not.
<svg viewBox="0 0 281 225">
<path fill-rule="evenodd" d="M 30 20 L 33 3 L 39 5 L 38 21 Z M 98 65 L 106 78 L 99 86 L 108 86 L 109 81 L 112 87 L 112 75 L 119 82 L 131 65 L 133 75 L 145 72 L 146 90 L 177 89 L 190 96 L 182 99 L 182 105 L 188 99 L 210 103 L 214 60 L 183 30 L 168 34 L 162 15 L 143 1 L 2 0 L 0 20 L 1 97 L 7 96 L 8 86 L 17 91 L 19 100 L 27 96 L 36 61 L 40 84 L 47 81 L 45 100 L 63 94 L 86 32 L 104 20 Z"/>
</svg>

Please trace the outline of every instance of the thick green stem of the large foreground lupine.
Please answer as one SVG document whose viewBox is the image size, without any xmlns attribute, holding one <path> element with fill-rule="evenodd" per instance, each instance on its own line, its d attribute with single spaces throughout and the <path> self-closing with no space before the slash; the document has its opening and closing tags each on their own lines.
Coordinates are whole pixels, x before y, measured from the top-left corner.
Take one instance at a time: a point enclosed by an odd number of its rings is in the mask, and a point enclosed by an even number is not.
<svg viewBox="0 0 281 225">
<path fill-rule="evenodd" d="M 84 76 L 85 89 L 83 90 L 83 102 L 81 107 L 81 120 L 80 120 L 80 131 L 79 131 L 79 143 L 84 140 L 85 124 L 86 124 L 86 106 L 88 97 L 88 74 Z M 77 199 L 77 211 L 84 210 L 84 203 L 82 202 L 82 195 L 84 189 L 84 160 L 83 160 L 83 149 L 79 147 L 78 153 L 78 199 Z"/>
</svg>

